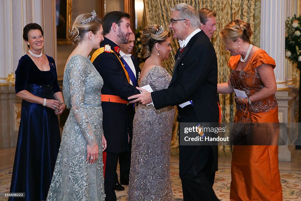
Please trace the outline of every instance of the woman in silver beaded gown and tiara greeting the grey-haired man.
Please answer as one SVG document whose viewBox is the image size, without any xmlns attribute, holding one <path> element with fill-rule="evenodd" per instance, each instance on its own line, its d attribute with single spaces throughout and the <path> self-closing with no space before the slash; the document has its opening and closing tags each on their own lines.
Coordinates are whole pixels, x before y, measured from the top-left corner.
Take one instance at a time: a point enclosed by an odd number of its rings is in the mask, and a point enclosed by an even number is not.
<svg viewBox="0 0 301 201">
<path fill-rule="evenodd" d="M 142 31 L 143 56 L 140 86 L 154 91 L 166 89 L 170 75 L 161 62 L 169 58 L 170 37 L 158 25 Z M 133 121 L 132 160 L 128 201 L 173 200 L 170 175 L 170 143 L 175 108 L 156 110 L 153 105 L 138 105 Z"/>
</svg>

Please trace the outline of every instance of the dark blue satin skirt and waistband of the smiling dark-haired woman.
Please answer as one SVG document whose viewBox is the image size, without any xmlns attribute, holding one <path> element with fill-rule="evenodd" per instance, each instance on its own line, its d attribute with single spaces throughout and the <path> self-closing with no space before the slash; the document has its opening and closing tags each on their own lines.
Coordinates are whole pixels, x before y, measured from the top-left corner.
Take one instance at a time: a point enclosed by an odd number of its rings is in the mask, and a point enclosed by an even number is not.
<svg viewBox="0 0 301 201">
<path fill-rule="evenodd" d="M 26 90 L 54 99 L 50 85 L 30 84 Z M 25 198 L 8 200 L 46 200 L 60 143 L 54 110 L 23 100 L 10 193 L 25 193 Z"/>
</svg>

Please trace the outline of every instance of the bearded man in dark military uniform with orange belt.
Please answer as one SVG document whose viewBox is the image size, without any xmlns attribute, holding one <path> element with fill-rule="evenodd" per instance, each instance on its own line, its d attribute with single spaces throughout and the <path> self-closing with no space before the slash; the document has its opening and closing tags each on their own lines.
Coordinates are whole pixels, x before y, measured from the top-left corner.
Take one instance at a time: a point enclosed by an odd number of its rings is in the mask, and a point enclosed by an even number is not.
<svg viewBox="0 0 301 201">
<path fill-rule="evenodd" d="M 104 40 L 92 55 L 92 63 L 104 80 L 101 90 L 103 130 L 107 140 L 104 152 L 104 191 L 106 201 L 115 201 L 114 177 L 119 153 L 129 151 L 127 98 L 140 93 L 130 84 L 130 76 L 119 54 L 120 44 L 128 43 L 132 33 L 130 15 L 120 11 L 103 19 Z"/>
</svg>

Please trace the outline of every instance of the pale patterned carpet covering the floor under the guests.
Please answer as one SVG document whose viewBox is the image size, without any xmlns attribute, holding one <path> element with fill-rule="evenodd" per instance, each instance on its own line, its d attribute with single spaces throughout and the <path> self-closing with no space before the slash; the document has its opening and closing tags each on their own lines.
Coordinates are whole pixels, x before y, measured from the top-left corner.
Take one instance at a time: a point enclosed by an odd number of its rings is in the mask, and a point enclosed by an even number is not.
<svg viewBox="0 0 301 201">
<path fill-rule="evenodd" d="M 171 163 L 172 175 L 172 190 L 174 200 L 183 200 L 182 185 L 179 178 L 178 163 Z M 119 171 L 118 171 L 119 172 Z M 11 183 L 12 167 L 0 171 L 0 193 L 9 192 Z M 301 172 L 299 171 L 280 171 L 281 184 L 283 188 L 283 200 L 301 200 Z M 219 166 L 219 171 L 216 172 L 214 190 L 218 198 L 222 201 L 228 201 L 230 195 L 231 171 L 228 166 Z M 117 200 L 126 200 L 126 192 L 128 186 L 125 186 L 125 191 L 116 191 Z M 0 198 L 0 201 L 7 198 Z"/>
</svg>

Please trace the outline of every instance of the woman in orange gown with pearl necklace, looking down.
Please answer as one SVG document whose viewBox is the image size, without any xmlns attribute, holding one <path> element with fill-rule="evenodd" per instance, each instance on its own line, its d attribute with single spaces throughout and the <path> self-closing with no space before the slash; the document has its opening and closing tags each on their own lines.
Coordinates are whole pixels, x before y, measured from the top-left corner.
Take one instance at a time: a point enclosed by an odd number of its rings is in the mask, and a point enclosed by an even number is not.
<svg viewBox="0 0 301 201">
<path fill-rule="evenodd" d="M 233 147 L 230 200 L 278 201 L 282 200 L 282 187 L 278 168 L 277 86 L 273 71 L 276 65 L 264 50 L 250 44 L 252 34 L 250 24 L 239 19 L 232 20 L 219 32 L 226 50 L 231 52 L 228 66 L 232 71 L 227 83 L 218 84 L 217 92 L 244 91 L 248 98 L 234 97 L 237 108 L 234 123 L 259 125 L 251 127 L 250 132 L 244 130 L 244 135 L 234 136 L 234 142 L 240 145 Z"/>
</svg>

